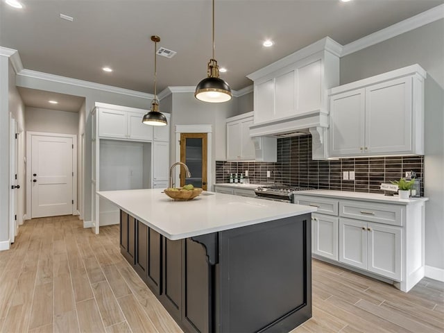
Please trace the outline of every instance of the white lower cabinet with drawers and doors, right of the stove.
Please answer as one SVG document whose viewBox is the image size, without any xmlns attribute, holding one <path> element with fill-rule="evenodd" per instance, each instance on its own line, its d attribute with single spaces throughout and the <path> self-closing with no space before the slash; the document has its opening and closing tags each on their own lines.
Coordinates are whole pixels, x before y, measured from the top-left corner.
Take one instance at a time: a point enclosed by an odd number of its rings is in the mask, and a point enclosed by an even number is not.
<svg viewBox="0 0 444 333">
<path fill-rule="evenodd" d="M 295 195 L 295 203 L 318 207 L 311 217 L 314 257 L 389 279 L 398 289 L 409 291 L 425 275 L 427 199 L 393 203 L 365 200 L 364 195 L 357 200 L 357 196 Z"/>
</svg>

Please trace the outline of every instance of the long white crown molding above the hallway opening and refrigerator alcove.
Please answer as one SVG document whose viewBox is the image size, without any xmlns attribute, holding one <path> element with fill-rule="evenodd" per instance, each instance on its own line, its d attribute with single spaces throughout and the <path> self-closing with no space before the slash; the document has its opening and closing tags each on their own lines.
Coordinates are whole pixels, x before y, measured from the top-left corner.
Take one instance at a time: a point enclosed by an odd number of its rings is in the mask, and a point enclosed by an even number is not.
<svg viewBox="0 0 444 333">
<path fill-rule="evenodd" d="M 83 87 L 87 89 L 96 89 L 103 92 L 112 92 L 114 94 L 122 94 L 133 97 L 139 97 L 140 99 L 153 99 L 153 94 L 147 94 L 146 92 L 136 92 L 135 90 L 123 89 L 119 87 L 113 87 L 112 85 L 102 85 L 101 83 L 94 83 L 85 80 L 78 80 L 77 78 L 67 78 L 65 76 L 58 76 L 54 74 L 42 73 L 41 71 L 33 71 L 31 69 L 22 69 L 17 73 L 19 78 L 37 78 L 40 80 L 46 80 L 55 83 L 65 83 L 67 85 L 75 85 L 77 87 Z"/>
</svg>

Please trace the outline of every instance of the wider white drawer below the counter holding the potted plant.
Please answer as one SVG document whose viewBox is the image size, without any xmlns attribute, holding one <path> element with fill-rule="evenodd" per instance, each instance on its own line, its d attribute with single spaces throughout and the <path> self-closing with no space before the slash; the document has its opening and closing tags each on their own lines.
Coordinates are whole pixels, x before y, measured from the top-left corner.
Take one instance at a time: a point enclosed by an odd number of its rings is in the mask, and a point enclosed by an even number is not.
<svg viewBox="0 0 444 333">
<path fill-rule="evenodd" d="M 339 216 L 390 225 L 402 225 L 403 210 L 402 206 L 384 203 L 339 202 Z"/>
</svg>

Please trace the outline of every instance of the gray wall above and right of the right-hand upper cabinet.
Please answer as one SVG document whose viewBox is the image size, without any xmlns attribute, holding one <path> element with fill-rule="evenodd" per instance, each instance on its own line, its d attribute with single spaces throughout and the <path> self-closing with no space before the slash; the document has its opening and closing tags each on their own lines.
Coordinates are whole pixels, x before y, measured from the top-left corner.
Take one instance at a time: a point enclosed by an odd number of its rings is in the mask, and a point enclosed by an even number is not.
<svg viewBox="0 0 444 333">
<path fill-rule="evenodd" d="M 444 268 L 444 19 L 341 58 L 341 85 L 408 65 L 425 81 L 425 262 Z"/>
</svg>

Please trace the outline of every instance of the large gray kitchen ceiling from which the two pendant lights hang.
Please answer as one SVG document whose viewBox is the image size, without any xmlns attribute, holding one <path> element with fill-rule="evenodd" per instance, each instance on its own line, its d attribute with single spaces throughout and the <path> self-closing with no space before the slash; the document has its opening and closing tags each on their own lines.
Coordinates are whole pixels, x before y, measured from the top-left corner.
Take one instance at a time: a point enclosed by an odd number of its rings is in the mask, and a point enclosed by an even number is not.
<svg viewBox="0 0 444 333">
<path fill-rule="evenodd" d="M 153 93 L 154 44 L 176 51 L 157 58 L 157 92 L 193 86 L 212 55 L 210 0 L 22 0 L 0 4 L 0 45 L 19 51 L 24 68 Z M 348 44 L 443 0 L 216 0 L 216 60 L 232 89 L 247 74 L 325 36 Z M 60 13 L 74 22 L 60 19 Z M 271 38 L 275 45 L 262 46 Z M 102 67 L 114 69 L 105 73 Z"/>
</svg>

